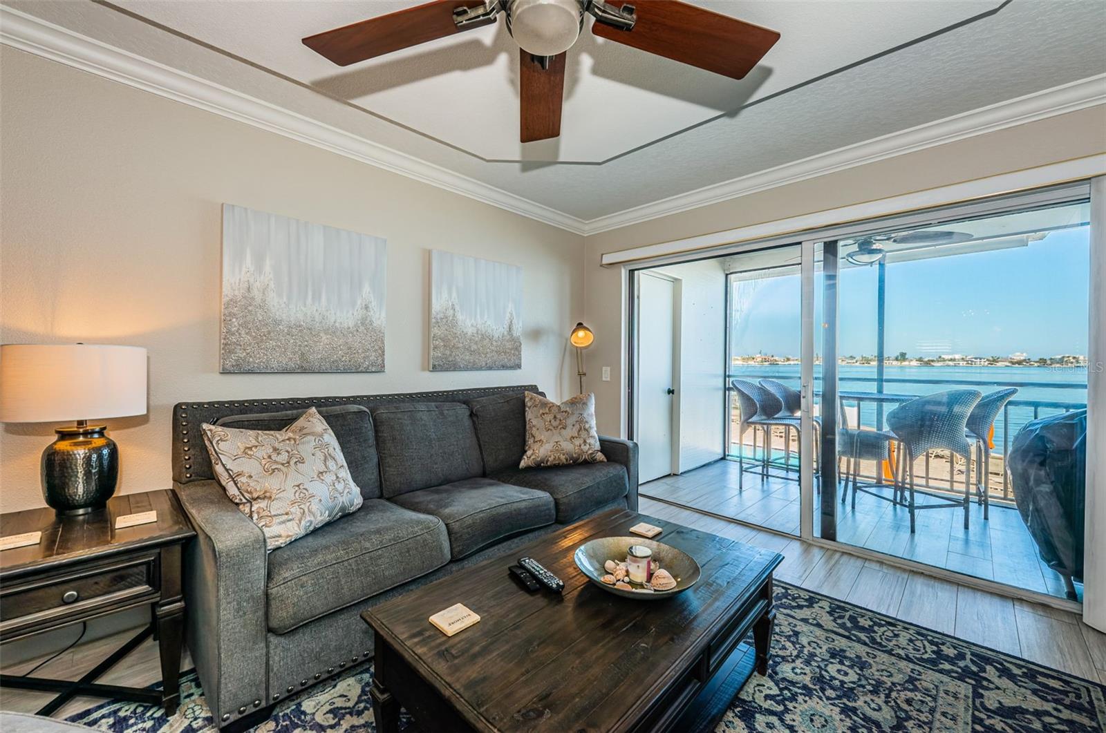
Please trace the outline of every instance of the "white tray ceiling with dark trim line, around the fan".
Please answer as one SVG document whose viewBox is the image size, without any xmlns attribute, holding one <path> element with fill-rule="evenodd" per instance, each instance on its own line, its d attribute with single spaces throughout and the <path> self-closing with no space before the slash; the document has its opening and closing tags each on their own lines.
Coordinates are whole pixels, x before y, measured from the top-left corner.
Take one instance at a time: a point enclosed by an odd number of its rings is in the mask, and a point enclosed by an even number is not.
<svg viewBox="0 0 1106 733">
<path fill-rule="evenodd" d="M 726 106 L 703 96 L 726 80 L 585 38 L 564 135 L 525 146 L 501 30 L 343 70 L 300 38 L 401 3 L 124 3 L 0 0 L 0 40 L 582 233 L 1087 107 L 1106 129 L 1104 2 L 702 2 L 789 41 L 747 96 Z M 630 101 L 584 104 L 588 84 Z"/>
</svg>

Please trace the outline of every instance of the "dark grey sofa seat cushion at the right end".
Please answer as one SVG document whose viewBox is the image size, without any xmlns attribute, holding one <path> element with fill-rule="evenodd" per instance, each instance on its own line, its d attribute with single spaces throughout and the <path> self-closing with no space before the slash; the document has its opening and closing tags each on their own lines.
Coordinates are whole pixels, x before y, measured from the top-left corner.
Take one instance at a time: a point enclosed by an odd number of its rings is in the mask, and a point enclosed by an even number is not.
<svg viewBox="0 0 1106 733">
<path fill-rule="evenodd" d="M 556 521 L 573 522 L 592 510 L 622 499 L 629 490 L 620 463 L 583 463 L 500 471 L 497 481 L 544 491 L 556 504 Z"/>
</svg>

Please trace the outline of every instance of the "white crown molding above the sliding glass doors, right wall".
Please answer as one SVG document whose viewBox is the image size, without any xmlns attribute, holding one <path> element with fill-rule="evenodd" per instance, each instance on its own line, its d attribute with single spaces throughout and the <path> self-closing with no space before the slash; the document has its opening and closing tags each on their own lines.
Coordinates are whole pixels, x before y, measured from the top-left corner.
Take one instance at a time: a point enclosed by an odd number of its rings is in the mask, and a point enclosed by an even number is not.
<svg viewBox="0 0 1106 733">
<path fill-rule="evenodd" d="M 984 135 L 995 130 L 1076 112 L 1106 103 L 1106 74 L 1088 76 L 1070 84 L 1027 94 L 1022 97 L 980 107 L 909 129 L 899 130 L 810 158 L 795 160 L 749 176 L 634 207 L 618 213 L 592 219 L 586 234 L 636 224 L 670 213 L 698 209 L 770 188 L 845 170 L 868 163 L 925 150 L 937 145 Z"/>
</svg>

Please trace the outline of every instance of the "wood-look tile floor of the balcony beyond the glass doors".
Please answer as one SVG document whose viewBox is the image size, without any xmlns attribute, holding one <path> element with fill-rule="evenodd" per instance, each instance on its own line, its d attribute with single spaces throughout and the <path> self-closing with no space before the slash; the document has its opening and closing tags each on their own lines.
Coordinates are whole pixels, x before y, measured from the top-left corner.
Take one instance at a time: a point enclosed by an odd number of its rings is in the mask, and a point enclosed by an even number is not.
<svg viewBox="0 0 1106 733">
<path fill-rule="evenodd" d="M 779 469 L 772 473 L 776 475 L 762 479 L 759 473 L 747 471 L 739 484 L 738 462 L 722 460 L 681 475 L 641 484 L 640 491 L 643 495 L 797 536 L 799 474 L 792 471 L 791 479 L 786 479 L 780 478 L 782 471 Z M 891 494 L 889 489 L 876 491 L 887 496 Z M 918 498 L 919 503 L 936 501 L 940 500 Z M 1066 597 L 1063 578 L 1040 559 L 1036 543 L 1016 509 L 992 502 L 984 521 L 983 507 L 972 502 L 969 514 L 969 528 L 966 530 L 960 509 L 919 511 L 917 527 L 911 534 L 910 516 L 905 507 L 857 493 L 855 507 L 852 501 L 837 504 L 837 541 L 1057 598 Z M 815 514 L 815 523 L 818 519 Z M 816 524 L 814 531 L 818 532 Z M 1076 584 L 1076 589 L 1082 594 L 1082 585 Z"/>
</svg>

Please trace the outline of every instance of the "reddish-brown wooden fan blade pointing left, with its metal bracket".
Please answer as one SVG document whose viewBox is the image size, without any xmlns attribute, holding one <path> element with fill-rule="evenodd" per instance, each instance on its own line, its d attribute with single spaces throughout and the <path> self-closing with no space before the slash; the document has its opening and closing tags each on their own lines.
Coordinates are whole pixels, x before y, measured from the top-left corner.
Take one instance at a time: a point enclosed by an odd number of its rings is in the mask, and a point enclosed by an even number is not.
<svg viewBox="0 0 1106 733">
<path fill-rule="evenodd" d="M 474 8 L 482 4 L 480 0 L 434 0 L 325 33 L 309 35 L 303 39 L 303 44 L 340 66 L 348 66 L 358 61 L 494 23 L 495 19 L 465 28 L 458 28 L 453 23 L 455 8 Z"/>
</svg>

